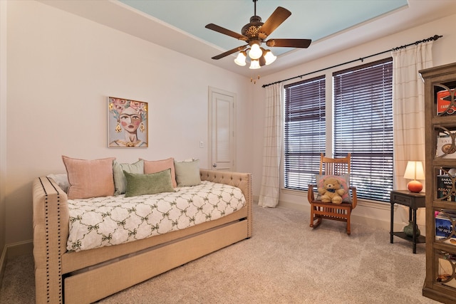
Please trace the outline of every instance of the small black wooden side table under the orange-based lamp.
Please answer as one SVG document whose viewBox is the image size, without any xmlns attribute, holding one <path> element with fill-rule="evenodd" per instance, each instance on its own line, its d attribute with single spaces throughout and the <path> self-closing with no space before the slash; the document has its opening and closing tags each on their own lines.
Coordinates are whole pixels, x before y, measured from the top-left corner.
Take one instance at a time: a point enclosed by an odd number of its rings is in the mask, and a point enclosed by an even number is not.
<svg viewBox="0 0 456 304">
<path fill-rule="evenodd" d="M 408 190 L 393 190 L 390 192 L 390 204 L 391 204 L 391 229 L 390 229 L 390 243 L 393 243 L 393 236 L 398 236 L 401 239 L 411 241 L 413 243 L 413 253 L 416 253 L 416 244 L 425 243 L 426 238 L 424 236 L 415 236 L 416 229 L 416 211 L 418 208 L 425 208 L 426 200 L 425 193 L 413 193 Z M 394 204 L 400 204 L 408 206 L 408 220 L 413 221 L 413 236 L 407 236 L 403 231 L 394 232 Z"/>
</svg>

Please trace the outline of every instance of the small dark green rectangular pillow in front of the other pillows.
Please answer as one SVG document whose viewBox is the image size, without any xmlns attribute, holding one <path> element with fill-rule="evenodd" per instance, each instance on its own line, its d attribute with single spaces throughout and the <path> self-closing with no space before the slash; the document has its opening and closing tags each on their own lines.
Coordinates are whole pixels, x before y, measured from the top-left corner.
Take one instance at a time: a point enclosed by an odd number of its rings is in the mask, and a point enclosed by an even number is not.
<svg viewBox="0 0 456 304">
<path fill-rule="evenodd" d="M 128 173 L 125 170 L 123 173 L 127 179 L 125 197 L 174 192 L 171 181 L 171 169 L 150 174 Z"/>
</svg>

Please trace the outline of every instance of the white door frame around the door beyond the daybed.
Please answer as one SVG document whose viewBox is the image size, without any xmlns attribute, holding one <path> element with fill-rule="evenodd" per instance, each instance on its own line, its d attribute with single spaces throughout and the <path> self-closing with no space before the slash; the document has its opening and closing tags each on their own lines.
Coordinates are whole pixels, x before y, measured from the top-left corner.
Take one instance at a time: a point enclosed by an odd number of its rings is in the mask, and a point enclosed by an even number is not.
<svg viewBox="0 0 456 304">
<path fill-rule="evenodd" d="M 212 167 L 212 164 L 214 163 L 214 159 L 212 159 L 212 95 L 214 93 L 221 94 L 221 95 L 227 95 L 229 97 L 233 98 L 233 108 L 232 108 L 232 141 L 231 141 L 231 149 L 232 149 L 232 162 L 233 162 L 233 167 L 232 171 L 236 171 L 236 137 L 237 137 L 237 132 L 236 132 L 236 102 L 237 102 L 237 95 L 236 93 L 229 92 L 227 90 L 221 90 L 219 88 L 214 88 L 209 86 L 208 90 L 208 96 L 207 96 L 207 104 L 208 104 L 208 110 L 207 110 L 207 166 L 209 170 L 213 170 L 214 168 Z"/>
</svg>

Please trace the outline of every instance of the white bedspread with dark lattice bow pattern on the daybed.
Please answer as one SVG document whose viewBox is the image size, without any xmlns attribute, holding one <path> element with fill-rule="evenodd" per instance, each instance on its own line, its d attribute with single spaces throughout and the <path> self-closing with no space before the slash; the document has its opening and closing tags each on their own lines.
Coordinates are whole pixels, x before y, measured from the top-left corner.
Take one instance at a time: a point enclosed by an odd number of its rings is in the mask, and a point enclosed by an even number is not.
<svg viewBox="0 0 456 304">
<path fill-rule="evenodd" d="M 68 251 L 112 246 L 219 219 L 242 208 L 237 187 L 204 181 L 176 192 L 70 199 Z"/>
</svg>

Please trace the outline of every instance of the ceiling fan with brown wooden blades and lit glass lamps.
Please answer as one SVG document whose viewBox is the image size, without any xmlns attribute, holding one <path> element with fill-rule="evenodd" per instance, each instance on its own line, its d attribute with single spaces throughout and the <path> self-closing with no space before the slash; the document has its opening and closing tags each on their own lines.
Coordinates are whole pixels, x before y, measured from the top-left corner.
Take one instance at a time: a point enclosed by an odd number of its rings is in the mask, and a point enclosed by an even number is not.
<svg viewBox="0 0 456 304">
<path fill-rule="evenodd" d="M 290 15 L 291 11 L 278 6 L 277 9 L 269 16 L 266 22 L 261 22 L 261 17 L 257 16 L 257 1 L 254 1 L 254 16 L 250 17 L 250 22 L 242 27 L 241 33 L 230 31 L 222 26 L 217 26 L 214 23 L 207 24 L 206 28 L 212 31 L 223 33 L 224 35 L 237 38 L 245 41 L 247 44 L 238 46 L 232 50 L 221 53 L 212 59 L 218 60 L 229 56 L 232 53 L 239 51 L 239 54 L 234 62 L 237 65 L 246 65 L 247 51 L 251 59 L 250 68 L 260 68 L 263 65 L 269 65 L 276 60 L 276 56 L 270 51 L 261 47 L 261 43 L 265 42 L 269 47 L 286 47 L 286 48 L 308 48 L 311 44 L 311 39 L 269 39 L 266 38 L 281 25 Z"/>
</svg>

